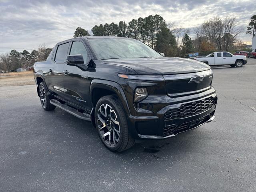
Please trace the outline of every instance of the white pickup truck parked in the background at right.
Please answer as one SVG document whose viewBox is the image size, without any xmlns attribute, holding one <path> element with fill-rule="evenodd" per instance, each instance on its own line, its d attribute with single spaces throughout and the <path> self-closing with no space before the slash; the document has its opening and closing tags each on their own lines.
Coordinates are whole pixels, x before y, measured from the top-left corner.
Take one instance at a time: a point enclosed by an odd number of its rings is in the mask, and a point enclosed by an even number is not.
<svg viewBox="0 0 256 192">
<path fill-rule="evenodd" d="M 233 55 L 230 52 L 213 52 L 206 57 L 197 57 L 194 60 L 204 62 L 208 65 L 230 65 L 231 67 L 242 67 L 247 63 L 246 56 Z"/>
</svg>

